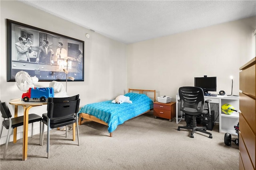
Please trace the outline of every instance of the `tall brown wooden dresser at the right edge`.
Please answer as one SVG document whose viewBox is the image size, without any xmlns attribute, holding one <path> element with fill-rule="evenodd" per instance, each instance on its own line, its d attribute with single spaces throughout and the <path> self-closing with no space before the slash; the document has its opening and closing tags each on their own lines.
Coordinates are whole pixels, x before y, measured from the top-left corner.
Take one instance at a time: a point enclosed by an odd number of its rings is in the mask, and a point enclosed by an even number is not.
<svg viewBox="0 0 256 170">
<path fill-rule="evenodd" d="M 256 169 L 256 57 L 239 68 L 239 169 Z"/>
</svg>

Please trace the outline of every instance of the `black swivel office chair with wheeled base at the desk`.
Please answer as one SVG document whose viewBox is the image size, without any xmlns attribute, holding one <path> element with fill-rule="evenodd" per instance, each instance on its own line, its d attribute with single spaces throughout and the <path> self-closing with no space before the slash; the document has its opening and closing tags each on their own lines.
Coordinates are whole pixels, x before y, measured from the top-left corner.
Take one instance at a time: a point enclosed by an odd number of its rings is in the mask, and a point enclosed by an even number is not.
<svg viewBox="0 0 256 170">
<path fill-rule="evenodd" d="M 192 116 L 192 125 L 178 126 L 178 131 L 182 129 L 191 129 L 190 134 L 191 138 L 194 138 L 194 132 L 200 131 L 209 135 L 209 138 L 212 138 L 212 133 L 206 131 L 206 127 L 197 127 L 196 126 L 196 117 L 198 115 L 210 114 L 210 101 L 204 101 L 204 91 L 200 87 L 180 87 L 179 88 L 180 96 L 180 110 L 185 113 L 185 115 Z M 204 109 L 204 102 L 208 104 L 208 109 Z M 186 119 L 186 118 L 185 118 Z"/>
</svg>

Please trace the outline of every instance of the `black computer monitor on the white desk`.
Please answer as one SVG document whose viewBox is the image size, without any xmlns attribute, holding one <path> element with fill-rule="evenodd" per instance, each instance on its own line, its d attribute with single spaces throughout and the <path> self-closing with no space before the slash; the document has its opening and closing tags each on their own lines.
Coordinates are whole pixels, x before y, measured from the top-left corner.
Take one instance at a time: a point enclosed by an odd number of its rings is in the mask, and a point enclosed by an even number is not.
<svg viewBox="0 0 256 170">
<path fill-rule="evenodd" d="M 204 93 L 217 91 L 217 77 L 195 77 L 195 87 L 200 87 L 204 90 Z"/>
</svg>

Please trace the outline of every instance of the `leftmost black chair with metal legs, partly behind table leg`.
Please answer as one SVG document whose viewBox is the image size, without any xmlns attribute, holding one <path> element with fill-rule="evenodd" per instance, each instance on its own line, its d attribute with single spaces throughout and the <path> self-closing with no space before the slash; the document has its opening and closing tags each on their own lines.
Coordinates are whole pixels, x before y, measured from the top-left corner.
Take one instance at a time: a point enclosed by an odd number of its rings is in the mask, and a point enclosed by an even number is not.
<svg viewBox="0 0 256 170">
<path fill-rule="evenodd" d="M 4 120 L 2 121 L 2 126 L 1 126 L 1 133 L 0 133 L 0 139 L 2 136 L 2 131 L 3 131 L 3 127 L 5 127 L 6 129 L 8 129 L 8 134 L 7 134 L 7 139 L 6 139 L 6 143 L 5 143 L 5 149 L 4 149 L 4 156 L 3 159 L 5 159 L 5 155 L 6 155 L 6 150 L 7 150 L 7 146 L 8 146 L 8 142 L 9 142 L 9 138 L 10 138 L 10 132 L 11 129 L 14 129 L 15 127 L 19 127 L 19 126 L 23 126 L 23 116 L 19 116 L 19 117 L 12 117 L 12 114 L 6 104 L 6 102 L 1 102 L 0 101 L 0 110 L 2 113 L 2 117 L 4 118 Z M 5 120 L 7 119 L 7 120 Z M 32 123 L 32 135 L 31 137 L 33 137 L 33 123 L 40 121 L 40 145 L 41 145 L 41 121 L 42 121 L 42 117 L 36 114 L 28 114 L 28 123 Z"/>
</svg>

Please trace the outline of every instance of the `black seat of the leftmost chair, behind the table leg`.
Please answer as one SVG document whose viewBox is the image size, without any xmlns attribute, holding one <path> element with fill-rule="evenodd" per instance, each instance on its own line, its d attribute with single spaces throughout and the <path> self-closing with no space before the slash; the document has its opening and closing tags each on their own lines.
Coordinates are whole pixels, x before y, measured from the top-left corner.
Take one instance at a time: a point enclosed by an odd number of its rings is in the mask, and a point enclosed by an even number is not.
<svg viewBox="0 0 256 170">
<path fill-rule="evenodd" d="M 24 116 L 14 117 L 11 120 L 12 120 L 12 128 L 19 127 L 23 125 Z M 41 120 L 42 120 L 42 117 L 40 115 L 33 114 L 33 113 L 28 114 L 28 123 L 34 123 Z M 6 129 L 9 129 L 9 125 L 10 125 L 9 120 L 6 119 L 5 121 L 3 121 L 3 125 Z"/>
</svg>

